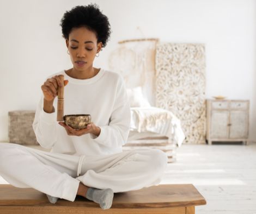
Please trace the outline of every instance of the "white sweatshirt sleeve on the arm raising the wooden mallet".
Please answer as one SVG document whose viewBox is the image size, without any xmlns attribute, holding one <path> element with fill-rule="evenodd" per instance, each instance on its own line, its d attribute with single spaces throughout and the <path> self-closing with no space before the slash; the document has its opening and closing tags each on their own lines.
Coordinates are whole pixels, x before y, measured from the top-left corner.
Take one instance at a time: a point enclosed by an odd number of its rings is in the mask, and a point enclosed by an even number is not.
<svg viewBox="0 0 256 214">
<path fill-rule="evenodd" d="M 55 112 L 54 106 L 53 112 L 50 114 L 46 113 L 43 108 L 44 96 L 41 96 L 35 111 L 35 118 L 32 126 L 36 140 L 41 147 L 52 148 L 54 143 L 57 142 L 57 113 Z"/>
</svg>

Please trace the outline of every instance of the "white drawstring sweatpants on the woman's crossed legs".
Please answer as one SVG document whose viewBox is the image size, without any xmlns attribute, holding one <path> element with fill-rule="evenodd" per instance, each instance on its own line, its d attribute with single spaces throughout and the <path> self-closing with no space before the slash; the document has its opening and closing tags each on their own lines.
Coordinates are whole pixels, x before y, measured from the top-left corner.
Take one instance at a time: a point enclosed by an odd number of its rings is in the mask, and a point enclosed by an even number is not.
<svg viewBox="0 0 256 214">
<path fill-rule="evenodd" d="M 158 185 L 167 159 L 159 149 L 73 156 L 0 143 L 0 175 L 6 181 L 72 202 L 80 182 L 94 188 L 111 188 L 113 192 Z"/>
</svg>

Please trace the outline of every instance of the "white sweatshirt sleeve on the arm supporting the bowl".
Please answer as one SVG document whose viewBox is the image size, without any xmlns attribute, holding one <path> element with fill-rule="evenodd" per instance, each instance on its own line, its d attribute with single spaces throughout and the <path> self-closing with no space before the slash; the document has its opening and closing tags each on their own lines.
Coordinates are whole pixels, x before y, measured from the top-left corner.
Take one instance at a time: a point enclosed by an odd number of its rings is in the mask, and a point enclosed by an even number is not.
<svg viewBox="0 0 256 214">
<path fill-rule="evenodd" d="M 101 131 L 99 136 L 90 136 L 100 144 L 108 147 L 121 147 L 128 138 L 131 122 L 131 110 L 127 97 L 123 78 L 120 77 L 120 84 L 117 87 L 116 98 L 112 110 L 109 124 L 99 126 Z"/>
</svg>

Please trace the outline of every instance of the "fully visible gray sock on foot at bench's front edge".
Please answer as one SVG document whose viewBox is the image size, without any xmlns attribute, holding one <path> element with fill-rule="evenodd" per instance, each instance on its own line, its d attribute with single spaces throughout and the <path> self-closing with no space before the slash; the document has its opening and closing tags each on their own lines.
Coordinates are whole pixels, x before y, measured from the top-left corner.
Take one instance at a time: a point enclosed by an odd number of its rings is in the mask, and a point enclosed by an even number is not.
<svg viewBox="0 0 256 214">
<path fill-rule="evenodd" d="M 97 188 L 89 187 L 86 193 L 86 198 L 100 204 L 100 207 L 103 210 L 109 209 L 112 206 L 113 197 L 114 192 L 111 188 L 99 190 Z"/>
</svg>

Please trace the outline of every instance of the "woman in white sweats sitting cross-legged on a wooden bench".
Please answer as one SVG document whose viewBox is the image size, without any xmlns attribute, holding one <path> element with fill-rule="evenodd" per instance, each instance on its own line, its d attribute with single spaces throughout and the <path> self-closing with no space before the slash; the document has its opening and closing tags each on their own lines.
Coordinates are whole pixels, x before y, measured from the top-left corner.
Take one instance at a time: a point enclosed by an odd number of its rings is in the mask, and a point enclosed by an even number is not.
<svg viewBox="0 0 256 214">
<path fill-rule="evenodd" d="M 36 139 L 51 152 L 2 143 L 0 172 L 16 187 L 32 187 L 74 202 L 76 195 L 112 205 L 114 192 L 159 184 L 167 155 L 158 149 L 122 152 L 130 126 L 130 105 L 119 74 L 93 67 L 111 32 L 108 18 L 97 5 L 66 11 L 60 26 L 73 67 L 55 73 L 41 86 L 33 129 Z M 92 123 L 74 130 L 57 122 L 59 75 L 64 75 L 64 114 L 90 114 Z M 4 164 L 7 163 L 7 164 Z"/>
</svg>

